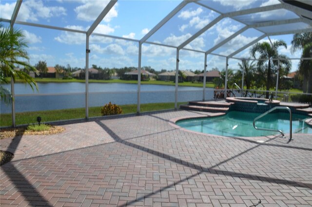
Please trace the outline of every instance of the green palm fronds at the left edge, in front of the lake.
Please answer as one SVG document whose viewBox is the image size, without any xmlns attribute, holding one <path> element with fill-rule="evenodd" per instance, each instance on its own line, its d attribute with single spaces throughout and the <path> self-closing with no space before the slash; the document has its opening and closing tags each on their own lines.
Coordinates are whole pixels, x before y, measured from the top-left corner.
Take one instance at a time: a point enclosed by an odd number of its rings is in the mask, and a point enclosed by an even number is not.
<svg viewBox="0 0 312 207">
<path fill-rule="evenodd" d="M 28 74 L 31 71 L 36 72 L 36 68 L 29 64 L 29 57 L 24 50 L 27 43 L 24 41 L 24 35 L 20 30 L 0 25 L 0 94 L 1 101 L 5 104 L 11 104 L 12 95 L 2 84 L 9 83 L 6 77 L 11 77 L 15 82 L 19 79 L 21 83 L 30 85 L 34 90 L 38 90 L 37 83 Z M 15 70 L 16 67 L 24 67 L 24 70 Z"/>
</svg>

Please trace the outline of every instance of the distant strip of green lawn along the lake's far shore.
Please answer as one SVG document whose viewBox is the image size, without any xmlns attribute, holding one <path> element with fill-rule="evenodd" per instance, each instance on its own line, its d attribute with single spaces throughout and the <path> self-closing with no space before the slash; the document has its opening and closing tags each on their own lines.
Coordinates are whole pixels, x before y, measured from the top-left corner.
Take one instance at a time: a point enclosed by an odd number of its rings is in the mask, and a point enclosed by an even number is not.
<svg viewBox="0 0 312 207">
<path fill-rule="evenodd" d="M 85 80 L 80 79 L 70 79 L 70 80 L 63 80 L 63 79 L 57 79 L 57 78 L 35 78 L 35 81 L 37 83 L 72 83 L 72 82 L 78 82 L 78 83 L 85 83 Z M 17 81 L 18 82 L 18 81 Z M 137 81 L 125 81 L 120 79 L 114 79 L 114 80 L 89 80 L 89 83 L 129 83 L 129 84 L 137 84 Z M 166 82 L 166 81 L 141 81 L 141 84 L 155 84 L 155 85 L 176 85 L 174 82 Z M 203 87 L 203 83 L 192 83 L 192 82 L 184 82 L 184 83 L 178 83 L 179 86 L 194 86 L 194 87 Z M 212 82 L 207 82 L 206 87 L 215 87 L 215 85 Z"/>
</svg>

